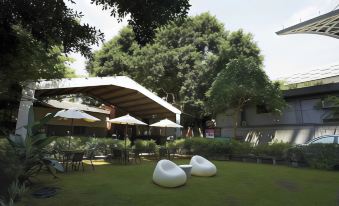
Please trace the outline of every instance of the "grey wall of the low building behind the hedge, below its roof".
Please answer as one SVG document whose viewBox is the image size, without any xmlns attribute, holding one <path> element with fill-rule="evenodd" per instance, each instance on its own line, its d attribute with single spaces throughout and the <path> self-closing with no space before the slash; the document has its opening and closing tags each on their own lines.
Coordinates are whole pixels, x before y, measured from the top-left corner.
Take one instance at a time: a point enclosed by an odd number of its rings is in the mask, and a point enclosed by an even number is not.
<svg viewBox="0 0 339 206">
<path fill-rule="evenodd" d="M 317 136 L 337 133 L 339 125 L 323 124 L 323 118 L 329 111 L 316 109 L 315 105 L 319 101 L 319 98 L 288 100 L 288 107 L 281 116 L 258 114 L 256 106 L 250 105 L 244 109 L 243 120 L 246 125 L 239 121 L 242 126 L 239 127 L 237 136 L 256 144 L 272 141 L 301 144 Z M 233 136 L 232 125 L 230 111 L 216 116 L 216 126 L 221 128 L 222 136 Z"/>
</svg>

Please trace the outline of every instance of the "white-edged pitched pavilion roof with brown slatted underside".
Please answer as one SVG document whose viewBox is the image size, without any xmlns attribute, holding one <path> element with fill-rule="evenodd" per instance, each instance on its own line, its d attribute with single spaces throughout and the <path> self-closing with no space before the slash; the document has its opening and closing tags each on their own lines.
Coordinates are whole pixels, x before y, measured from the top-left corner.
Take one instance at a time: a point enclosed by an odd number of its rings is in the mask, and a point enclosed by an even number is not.
<svg viewBox="0 0 339 206">
<path fill-rule="evenodd" d="M 37 98 L 82 93 L 143 118 L 181 114 L 180 110 L 125 76 L 39 81 L 32 89 Z"/>
</svg>

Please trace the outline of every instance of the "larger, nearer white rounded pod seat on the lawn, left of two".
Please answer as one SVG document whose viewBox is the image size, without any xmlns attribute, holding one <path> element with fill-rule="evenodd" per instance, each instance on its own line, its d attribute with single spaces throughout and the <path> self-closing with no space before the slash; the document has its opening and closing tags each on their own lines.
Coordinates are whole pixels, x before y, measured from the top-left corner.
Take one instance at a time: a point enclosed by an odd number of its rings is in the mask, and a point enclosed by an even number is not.
<svg viewBox="0 0 339 206">
<path fill-rule="evenodd" d="M 186 173 L 169 160 L 160 160 L 153 172 L 153 182 L 164 187 L 184 185 L 186 179 Z"/>
</svg>

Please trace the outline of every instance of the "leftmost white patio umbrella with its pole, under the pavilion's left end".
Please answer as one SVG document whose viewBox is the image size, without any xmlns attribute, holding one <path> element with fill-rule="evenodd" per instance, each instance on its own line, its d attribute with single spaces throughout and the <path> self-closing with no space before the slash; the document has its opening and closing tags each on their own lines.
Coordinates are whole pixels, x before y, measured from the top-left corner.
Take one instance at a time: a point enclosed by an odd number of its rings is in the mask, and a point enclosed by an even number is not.
<svg viewBox="0 0 339 206">
<path fill-rule="evenodd" d="M 71 119 L 71 127 L 72 127 L 72 134 L 74 135 L 74 119 L 82 119 L 85 120 L 86 122 L 96 122 L 96 121 L 101 121 L 100 119 L 93 117 L 92 115 L 89 115 L 78 108 L 70 108 L 70 109 L 63 109 L 57 112 L 54 117 L 61 117 L 63 119 Z M 71 146 L 71 137 L 68 140 L 68 148 Z"/>
</svg>

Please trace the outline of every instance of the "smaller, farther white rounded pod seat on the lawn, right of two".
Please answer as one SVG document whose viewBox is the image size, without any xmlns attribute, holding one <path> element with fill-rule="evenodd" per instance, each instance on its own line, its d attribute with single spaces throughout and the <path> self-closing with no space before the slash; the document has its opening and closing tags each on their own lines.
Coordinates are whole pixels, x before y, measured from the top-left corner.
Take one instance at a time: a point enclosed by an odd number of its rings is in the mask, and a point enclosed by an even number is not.
<svg viewBox="0 0 339 206">
<path fill-rule="evenodd" d="M 191 174 L 195 176 L 209 177 L 217 173 L 215 165 L 199 155 L 191 158 L 190 165 L 192 165 Z"/>
</svg>

